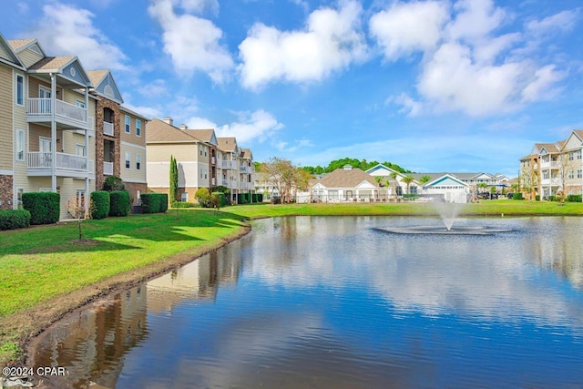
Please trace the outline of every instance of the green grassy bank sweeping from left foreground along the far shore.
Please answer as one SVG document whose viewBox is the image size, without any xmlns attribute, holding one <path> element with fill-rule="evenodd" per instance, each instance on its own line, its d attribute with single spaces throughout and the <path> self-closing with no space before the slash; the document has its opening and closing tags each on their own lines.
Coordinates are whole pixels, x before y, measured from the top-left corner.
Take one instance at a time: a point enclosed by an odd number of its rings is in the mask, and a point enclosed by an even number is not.
<svg viewBox="0 0 583 389">
<path fill-rule="evenodd" d="M 67 310 L 116 285 L 136 282 L 244 233 L 244 220 L 288 215 L 435 215 L 425 203 L 253 204 L 87 220 L 0 232 L 0 365 Z M 483 201 L 462 216 L 583 215 L 583 204 Z M 178 258 L 178 259 L 177 259 Z M 77 293 L 77 294 L 76 294 Z M 47 313 L 48 312 L 48 313 Z"/>
</svg>

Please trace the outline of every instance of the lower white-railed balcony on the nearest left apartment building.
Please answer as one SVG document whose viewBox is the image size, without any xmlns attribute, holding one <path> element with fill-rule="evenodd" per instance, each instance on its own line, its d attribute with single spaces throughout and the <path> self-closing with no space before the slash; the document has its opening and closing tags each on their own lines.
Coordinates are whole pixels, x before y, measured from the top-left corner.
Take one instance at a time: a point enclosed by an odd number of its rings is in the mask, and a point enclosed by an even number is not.
<svg viewBox="0 0 583 389">
<path fill-rule="evenodd" d="M 95 176 L 93 160 L 74 154 L 56 153 L 55 174 L 62 177 L 92 178 Z M 51 176 L 53 155 L 50 152 L 28 153 L 28 176 Z"/>
</svg>

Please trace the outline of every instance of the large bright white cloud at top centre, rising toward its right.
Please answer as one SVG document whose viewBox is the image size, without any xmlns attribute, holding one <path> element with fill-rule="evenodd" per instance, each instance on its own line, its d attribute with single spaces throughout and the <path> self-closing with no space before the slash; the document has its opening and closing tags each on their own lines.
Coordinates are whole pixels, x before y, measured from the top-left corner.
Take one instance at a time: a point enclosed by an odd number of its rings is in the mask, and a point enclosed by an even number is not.
<svg viewBox="0 0 583 389">
<path fill-rule="evenodd" d="M 320 81 L 365 59 L 361 12 L 359 3 L 343 1 L 338 10 L 312 12 L 301 31 L 282 32 L 261 23 L 252 26 L 239 46 L 241 84 L 257 89 L 275 80 Z"/>
</svg>

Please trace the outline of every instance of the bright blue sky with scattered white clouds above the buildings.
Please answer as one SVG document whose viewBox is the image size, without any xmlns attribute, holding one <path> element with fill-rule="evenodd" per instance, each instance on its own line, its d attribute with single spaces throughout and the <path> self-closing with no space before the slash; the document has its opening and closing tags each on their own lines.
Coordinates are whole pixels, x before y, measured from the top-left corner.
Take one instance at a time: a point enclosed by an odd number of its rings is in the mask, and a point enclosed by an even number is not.
<svg viewBox="0 0 583 389">
<path fill-rule="evenodd" d="M 5 38 L 109 68 L 127 107 L 259 161 L 515 177 L 534 142 L 583 128 L 579 0 L 11 4 Z"/>
</svg>

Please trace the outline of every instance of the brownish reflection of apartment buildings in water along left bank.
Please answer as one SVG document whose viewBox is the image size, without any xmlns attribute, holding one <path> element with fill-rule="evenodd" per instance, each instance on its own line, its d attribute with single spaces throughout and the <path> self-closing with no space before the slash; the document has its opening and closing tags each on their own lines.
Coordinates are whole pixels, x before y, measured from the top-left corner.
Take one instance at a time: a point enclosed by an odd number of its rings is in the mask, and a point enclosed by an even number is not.
<svg viewBox="0 0 583 389">
<path fill-rule="evenodd" d="M 66 369 L 65 377 L 43 377 L 41 387 L 116 387 L 125 356 L 148 338 L 148 314 L 171 311 L 187 299 L 214 300 L 218 284 L 236 283 L 239 271 L 239 256 L 219 260 L 214 251 L 70 314 L 31 344 L 32 366 Z"/>
</svg>

